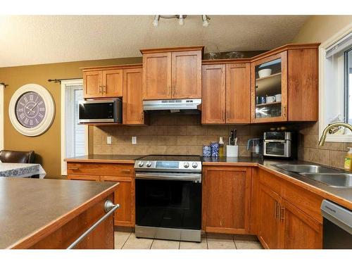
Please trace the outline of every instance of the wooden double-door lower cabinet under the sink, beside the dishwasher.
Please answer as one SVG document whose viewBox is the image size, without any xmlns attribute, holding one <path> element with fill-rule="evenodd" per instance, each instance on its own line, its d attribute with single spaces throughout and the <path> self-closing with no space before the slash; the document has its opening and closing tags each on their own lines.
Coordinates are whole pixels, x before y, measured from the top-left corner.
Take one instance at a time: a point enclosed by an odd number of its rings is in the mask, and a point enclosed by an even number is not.
<svg viewBox="0 0 352 264">
<path fill-rule="evenodd" d="M 258 238 L 266 249 L 322 249 L 322 224 L 261 185 Z"/>
</svg>

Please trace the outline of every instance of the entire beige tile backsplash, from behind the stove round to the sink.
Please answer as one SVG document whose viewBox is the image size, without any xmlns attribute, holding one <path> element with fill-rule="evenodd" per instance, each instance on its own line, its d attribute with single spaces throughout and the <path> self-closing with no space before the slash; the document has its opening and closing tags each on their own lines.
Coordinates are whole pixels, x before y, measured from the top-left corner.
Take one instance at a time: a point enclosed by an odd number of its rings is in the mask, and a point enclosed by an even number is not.
<svg viewBox="0 0 352 264">
<path fill-rule="evenodd" d="M 263 137 L 263 132 L 275 125 L 201 125 L 201 115 L 152 114 L 150 125 L 94 127 L 95 154 L 127 155 L 201 155 L 202 146 L 227 138 L 230 130 L 237 129 L 239 156 L 251 156 L 246 150 L 247 140 Z M 318 146 L 318 122 L 285 124 L 291 130 L 299 131 L 298 159 L 344 167 L 348 143 L 326 142 Z M 106 144 L 106 137 L 112 137 L 112 144 Z M 132 136 L 137 144 L 132 145 Z"/>
</svg>

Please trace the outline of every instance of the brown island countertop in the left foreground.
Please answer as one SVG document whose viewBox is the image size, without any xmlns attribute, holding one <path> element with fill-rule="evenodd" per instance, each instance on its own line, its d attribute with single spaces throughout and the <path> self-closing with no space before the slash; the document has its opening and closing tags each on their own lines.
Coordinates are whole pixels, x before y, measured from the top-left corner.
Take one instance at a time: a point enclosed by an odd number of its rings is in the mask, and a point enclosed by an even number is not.
<svg viewBox="0 0 352 264">
<path fill-rule="evenodd" d="M 116 182 L 0 177 L 0 249 L 56 230 L 117 187 Z"/>
</svg>

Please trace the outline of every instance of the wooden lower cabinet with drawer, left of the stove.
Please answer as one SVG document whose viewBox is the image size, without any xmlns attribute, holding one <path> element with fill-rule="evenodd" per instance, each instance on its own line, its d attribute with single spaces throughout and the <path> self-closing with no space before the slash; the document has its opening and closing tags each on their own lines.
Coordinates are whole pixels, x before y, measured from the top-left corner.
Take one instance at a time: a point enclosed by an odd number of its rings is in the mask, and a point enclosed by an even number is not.
<svg viewBox="0 0 352 264">
<path fill-rule="evenodd" d="M 119 203 L 114 225 L 134 227 L 134 168 L 133 164 L 68 162 L 69 180 L 119 182 L 114 203 Z"/>
</svg>

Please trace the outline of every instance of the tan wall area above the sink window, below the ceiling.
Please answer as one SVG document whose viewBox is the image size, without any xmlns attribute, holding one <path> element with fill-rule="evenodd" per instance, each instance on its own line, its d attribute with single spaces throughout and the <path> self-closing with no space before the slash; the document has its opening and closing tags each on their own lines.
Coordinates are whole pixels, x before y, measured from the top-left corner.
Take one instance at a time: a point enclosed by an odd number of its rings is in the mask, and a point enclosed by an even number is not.
<svg viewBox="0 0 352 264">
<path fill-rule="evenodd" d="M 352 15 L 313 15 L 294 37 L 293 43 L 325 42 L 352 23 Z"/>
</svg>

